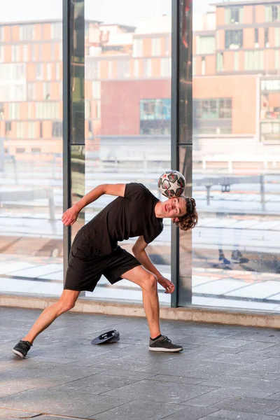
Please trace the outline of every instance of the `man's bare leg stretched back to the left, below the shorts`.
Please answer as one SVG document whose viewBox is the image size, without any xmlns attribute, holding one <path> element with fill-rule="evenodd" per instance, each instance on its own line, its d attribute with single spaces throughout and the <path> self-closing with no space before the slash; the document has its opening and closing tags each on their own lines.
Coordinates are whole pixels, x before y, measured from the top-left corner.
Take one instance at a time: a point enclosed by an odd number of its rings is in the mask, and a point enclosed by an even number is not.
<svg viewBox="0 0 280 420">
<path fill-rule="evenodd" d="M 75 306 L 79 294 L 80 292 L 76 290 L 63 290 L 58 302 L 43 310 L 28 334 L 22 338 L 22 341 L 28 341 L 32 344 L 37 335 L 45 330 L 45 328 L 48 328 L 59 315 L 64 314 L 64 312 L 69 311 Z"/>
</svg>

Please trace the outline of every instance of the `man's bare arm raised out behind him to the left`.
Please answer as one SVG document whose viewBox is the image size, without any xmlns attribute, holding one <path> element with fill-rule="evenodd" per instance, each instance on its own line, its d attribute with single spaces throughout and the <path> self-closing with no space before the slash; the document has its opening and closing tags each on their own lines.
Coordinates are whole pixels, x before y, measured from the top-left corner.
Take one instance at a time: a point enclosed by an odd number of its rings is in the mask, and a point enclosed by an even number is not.
<svg viewBox="0 0 280 420">
<path fill-rule="evenodd" d="M 94 202 L 104 194 L 116 195 L 118 197 L 125 197 L 126 184 L 102 184 L 93 188 L 90 193 L 87 193 L 76 204 L 73 204 L 70 209 L 66 210 L 62 215 L 62 223 L 65 226 L 73 225 L 78 218 L 80 211 L 88 204 Z"/>
</svg>

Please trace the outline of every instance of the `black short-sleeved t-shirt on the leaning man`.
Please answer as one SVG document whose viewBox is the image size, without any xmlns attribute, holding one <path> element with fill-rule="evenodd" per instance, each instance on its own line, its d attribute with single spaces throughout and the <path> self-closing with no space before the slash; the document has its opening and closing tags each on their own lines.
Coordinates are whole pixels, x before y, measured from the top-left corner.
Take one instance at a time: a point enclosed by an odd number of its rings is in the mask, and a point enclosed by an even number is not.
<svg viewBox="0 0 280 420">
<path fill-rule="evenodd" d="M 125 197 L 117 197 L 83 228 L 94 248 L 109 254 L 118 241 L 131 237 L 144 237 L 152 242 L 163 229 L 162 218 L 155 216 L 158 202 L 151 191 L 141 183 L 127 183 Z"/>
</svg>

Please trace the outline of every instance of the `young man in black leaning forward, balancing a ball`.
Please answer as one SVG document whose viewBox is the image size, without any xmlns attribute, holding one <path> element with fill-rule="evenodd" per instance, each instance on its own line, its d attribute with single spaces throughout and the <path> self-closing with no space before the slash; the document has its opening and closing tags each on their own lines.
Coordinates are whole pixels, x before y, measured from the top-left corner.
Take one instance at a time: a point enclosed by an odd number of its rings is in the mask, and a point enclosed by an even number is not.
<svg viewBox="0 0 280 420">
<path fill-rule="evenodd" d="M 42 312 L 28 334 L 13 348 L 13 353 L 21 358 L 27 355 L 40 332 L 75 306 L 81 291 L 94 290 L 102 274 L 111 284 L 127 279 L 141 287 L 151 351 L 183 350 L 160 333 L 157 283 L 165 288 L 165 293 L 173 293 L 174 285 L 155 268 L 146 246 L 162 232 L 162 218 L 172 218 L 183 230 L 194 228 L 197 224 L 195 200 L 181 196 L 160 202 L 140 183 L 105 184 L 94 188 L 65 211 L 64 225 L 73 225 L 80 210 L 104 194 L 118 198 L 78 231 L 71 246 L 62 296 Z M 139 237 L 132 248 L 134 256 L 118 246 L 118 241 L 130 237 Z"/>
</svg>

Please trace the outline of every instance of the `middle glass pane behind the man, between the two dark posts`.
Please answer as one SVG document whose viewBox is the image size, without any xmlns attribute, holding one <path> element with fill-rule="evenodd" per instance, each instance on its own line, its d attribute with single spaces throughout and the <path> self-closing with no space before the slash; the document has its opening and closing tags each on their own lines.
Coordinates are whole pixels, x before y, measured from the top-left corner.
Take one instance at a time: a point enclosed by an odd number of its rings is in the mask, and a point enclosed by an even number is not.
<svg viewBox="0 0 280 420">
<path fill-rule="evenodd" d="M 136 181 L 161 198 L 158 177 L 171 165 L 171 6 L 170 0 L 145 0 L 140 12 L 129 0 L 98 6 L 85 1 L 85 192 L 101 183 Z M 90 204 L 85 222 L 114 198 L 104 195 Z M 148 246 L 151 260 L 168 278 L 170 231 L 167 221 Z M 135 240 L 121 246 L 132 252 Z M 133 283 L 109 286 L 104 278 L 87 295 L 141 300 Z M 160 290 L 160 300 L 169 303 L 170 296 Z"/>
</svg>

